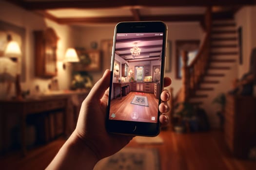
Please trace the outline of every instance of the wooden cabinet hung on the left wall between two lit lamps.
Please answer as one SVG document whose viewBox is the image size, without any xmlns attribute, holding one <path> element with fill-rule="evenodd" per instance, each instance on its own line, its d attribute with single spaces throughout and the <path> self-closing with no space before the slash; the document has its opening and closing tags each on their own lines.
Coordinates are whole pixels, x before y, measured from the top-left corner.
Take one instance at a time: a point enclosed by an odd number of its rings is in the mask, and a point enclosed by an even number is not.
<svg viewBox="0 0 256 170">
<path fill-rule="evenodd" d="M 36 76 L 51 78 L 57 76 L 57 42 L 59 37 L 52 28 L 35 31 Z"/>
</svg>

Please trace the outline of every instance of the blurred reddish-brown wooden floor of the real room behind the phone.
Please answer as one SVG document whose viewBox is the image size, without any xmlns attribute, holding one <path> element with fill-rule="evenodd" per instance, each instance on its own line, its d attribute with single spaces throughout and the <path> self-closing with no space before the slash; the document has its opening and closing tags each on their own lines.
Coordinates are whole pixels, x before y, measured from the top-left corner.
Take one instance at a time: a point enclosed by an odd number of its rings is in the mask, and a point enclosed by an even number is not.
<svg viewBox="0 0 256 170">
<path fill-rule="evenodd" d="M 232 157 L 220 131 L 177 134 L 167 130 L 159 136 L 163 144 L 138 144 L 132 140 L 127 147 L 158 148 L 161 170 L 256 170 L 256 161 Z M 58 139 L 23 158 L 19 153 L 1 157 L 0 170 L 43 170 L 64 142 Z"/>
</svg>

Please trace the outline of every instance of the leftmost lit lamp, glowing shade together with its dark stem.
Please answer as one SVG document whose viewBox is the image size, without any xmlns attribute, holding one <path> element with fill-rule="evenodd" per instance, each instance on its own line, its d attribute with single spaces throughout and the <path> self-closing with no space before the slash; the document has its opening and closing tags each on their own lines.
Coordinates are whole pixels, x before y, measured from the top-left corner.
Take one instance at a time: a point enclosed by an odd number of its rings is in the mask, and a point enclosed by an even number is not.
<svg viewBox="0 0 256 170">
<path fill-rule="evenodd" d="M 17 62 L 15 93 L 16 93 L 16 100 L 22 100 L 21 87 L 20 87 L 20 64 L 19 64 L 21 51 L 20 51 L 19 44 L 16 41 L 9 41 L 4 51 L 4 55 L 11 58 L 13 61 Z"/>
</svg>

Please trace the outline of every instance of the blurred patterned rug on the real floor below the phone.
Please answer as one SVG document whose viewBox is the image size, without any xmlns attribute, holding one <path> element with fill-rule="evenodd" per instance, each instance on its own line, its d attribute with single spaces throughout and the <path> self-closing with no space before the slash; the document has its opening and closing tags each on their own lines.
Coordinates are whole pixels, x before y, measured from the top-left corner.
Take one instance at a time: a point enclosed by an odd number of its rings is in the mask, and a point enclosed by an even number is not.
<svg viewBox="0 0 256 170">
<path fill-rule="evenodd" d="M 100 160 L 94 170 L 160 170 L 158 150 L 126 147 Z"/>
</svg>

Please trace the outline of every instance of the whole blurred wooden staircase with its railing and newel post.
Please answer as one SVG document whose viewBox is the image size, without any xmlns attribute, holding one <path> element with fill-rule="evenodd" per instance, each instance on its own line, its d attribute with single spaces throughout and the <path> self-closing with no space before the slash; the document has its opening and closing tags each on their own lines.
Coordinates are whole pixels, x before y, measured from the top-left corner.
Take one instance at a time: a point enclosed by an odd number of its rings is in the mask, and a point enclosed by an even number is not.
<svg viewBox="0 0 256 170">
<path fill-rule="evenodd" d="M 217 106 L 212 103 L 219 93 L 231 89 L 236 76 L 238 41 L 234 19 L 212 20 L 206 12 L 206 36 L 195 61 L 182 68 L 182 87 L 174 99 L 190 102 L 205 109 L 211 126 L 218 126 Z M 187 52 L 183 51 L 183 63 Z"/>
</svg>

